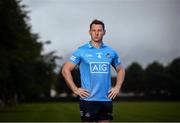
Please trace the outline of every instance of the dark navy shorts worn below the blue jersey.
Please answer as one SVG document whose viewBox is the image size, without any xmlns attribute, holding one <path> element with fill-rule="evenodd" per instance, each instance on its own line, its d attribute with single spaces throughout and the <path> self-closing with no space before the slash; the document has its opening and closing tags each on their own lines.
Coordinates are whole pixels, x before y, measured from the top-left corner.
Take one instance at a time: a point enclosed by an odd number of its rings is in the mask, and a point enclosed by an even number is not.
<svg viewBox="0 0 180 123">
<path fill-rule="evenodd" d="M 112 101 L 80 101 L 82 122 L 112 120 Z"/>
</svg>

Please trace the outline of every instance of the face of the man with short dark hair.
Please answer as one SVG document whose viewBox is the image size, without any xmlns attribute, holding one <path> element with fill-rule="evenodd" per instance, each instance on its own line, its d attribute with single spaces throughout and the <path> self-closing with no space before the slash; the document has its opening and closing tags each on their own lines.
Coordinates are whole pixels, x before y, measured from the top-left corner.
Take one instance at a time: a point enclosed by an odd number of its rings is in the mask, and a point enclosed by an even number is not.
<svg viewBox="0 0 180 123">
<path fill-rule="evenodd" d="M 105 30 L 103 30 L 103 26 L 100 24 L 93 24 L 91 29 L 89 30 L 89 34 L 91 35 L 91 40 L 95 42 L 102 41 L 103 36 L 105 35 Z"/>
</svg>

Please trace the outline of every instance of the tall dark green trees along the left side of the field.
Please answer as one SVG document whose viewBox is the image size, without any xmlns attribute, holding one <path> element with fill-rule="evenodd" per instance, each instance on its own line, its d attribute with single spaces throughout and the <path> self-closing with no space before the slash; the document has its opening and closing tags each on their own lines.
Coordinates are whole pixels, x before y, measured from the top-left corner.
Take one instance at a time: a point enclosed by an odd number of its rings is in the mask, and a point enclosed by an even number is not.
<svg viewBox="0 0 180 123">
<path fill-rule="evenodd" d="M 43 44 L 31 32 L 25 6 L 1 0 L 0 18 L 0 100 L 6 104 L 49 95 L 55 63 L 41 55 Z"/>
</svg>

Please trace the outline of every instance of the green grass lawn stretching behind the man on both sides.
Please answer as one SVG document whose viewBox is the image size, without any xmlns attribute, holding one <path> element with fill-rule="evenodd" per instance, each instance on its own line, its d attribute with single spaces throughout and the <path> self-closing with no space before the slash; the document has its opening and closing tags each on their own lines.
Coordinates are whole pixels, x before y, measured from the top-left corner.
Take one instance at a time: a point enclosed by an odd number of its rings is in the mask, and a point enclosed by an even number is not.
<svg viewBox="0 0 180 123">
<path fill-rule="evenodd" d="M 180 102 L 114 102 L 115 121 L 180 121 Z M 33 103 L 0 108 L 1 122 L 80 121 L 79 103 Z"/>
</svg>

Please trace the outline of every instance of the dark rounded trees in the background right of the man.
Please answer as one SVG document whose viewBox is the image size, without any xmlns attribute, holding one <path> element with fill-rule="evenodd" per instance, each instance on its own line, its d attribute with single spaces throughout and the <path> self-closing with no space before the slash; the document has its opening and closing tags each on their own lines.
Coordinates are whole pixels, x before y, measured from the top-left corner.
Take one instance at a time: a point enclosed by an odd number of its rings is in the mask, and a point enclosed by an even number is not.
<svg viewBox="0 0 180 123">
<path fill-rule="evenodd" d="M 179 99 L 180 58 L 163 66 L 158 61 L 145 69 L 137 62 L 126 69 L 123 92 L 143 93 L 145 96 L 166 96 Z"/>
</svg>

